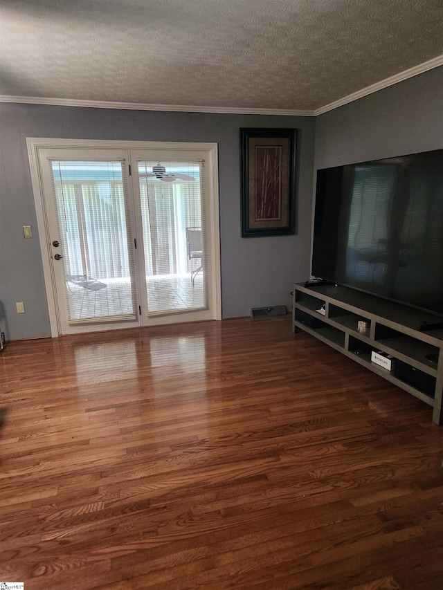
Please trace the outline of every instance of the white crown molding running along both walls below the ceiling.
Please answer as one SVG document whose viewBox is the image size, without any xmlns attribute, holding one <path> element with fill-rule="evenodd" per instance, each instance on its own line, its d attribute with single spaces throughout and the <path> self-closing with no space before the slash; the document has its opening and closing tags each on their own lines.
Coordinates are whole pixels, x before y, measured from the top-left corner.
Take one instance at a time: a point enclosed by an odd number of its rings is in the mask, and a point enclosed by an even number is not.
<svg viewBox="0 0 443 590">
<path fill-rule="evenodd" d="M 289 117 L 316 117 L 343 107 L 344 104 L 359 100 L 363 96 L 368 96 L 378 92 L 388 86 L 408 80 L 408 78 L 417 76 L 433 68 L 443 66 L 443 55 L 429 59 L 423 64 L 404 70 L 394 76 L 381 80 L 371 86 L 356 91 L 343 98 L 335 100 L 320 107 L 314 111 L 296 111 L 291 109 L 248 109 L 243 107 L 200 107 L 181 104 L 145 104 L 143 102 L 107 102 L 106 100 L 79 100 L 75 98 L 46 98 L 38 96 L 8 96 L 0 95 L 0 102 L 17 102 L 23 104 L 51 104 L 55 107 L 87 107 L 91 109 L 122 109 L 128 111 L 168 111 L 177 113 L 221 113 L 230 115 L 280 115 Z"/>
</svg>

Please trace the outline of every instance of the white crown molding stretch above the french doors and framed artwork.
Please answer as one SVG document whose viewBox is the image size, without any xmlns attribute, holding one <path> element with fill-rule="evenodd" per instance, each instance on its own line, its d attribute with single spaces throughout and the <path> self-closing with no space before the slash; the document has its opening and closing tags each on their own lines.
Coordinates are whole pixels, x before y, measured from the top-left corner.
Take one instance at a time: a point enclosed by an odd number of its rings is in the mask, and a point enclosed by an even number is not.
<svg viewBox="0 0 443 590">
<path fill-rule="evenodd" d="M 51 104 L 55 107 L 87 107 L 91 109 L 121 109 L 129 111 L 168 111 L 178 113 L 225 113 L 231 115 L 284 115 L 314 117 L 314 111 L 291 109 L 248 109 L 242 107 L 199 107 L 181 104 L 145 104 L 143 102 L 107 102 L 105 100 L 78 100 L 75 98 L 46 98 L 39 96 L 0 95 L 0 102 L 24 104 Z"/>
</svg>

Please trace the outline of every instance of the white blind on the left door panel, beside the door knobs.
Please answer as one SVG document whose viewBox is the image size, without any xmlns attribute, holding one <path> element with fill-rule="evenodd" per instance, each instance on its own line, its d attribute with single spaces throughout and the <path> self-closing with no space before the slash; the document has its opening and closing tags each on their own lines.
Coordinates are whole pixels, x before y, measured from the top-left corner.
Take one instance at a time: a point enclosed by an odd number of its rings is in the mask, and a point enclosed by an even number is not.
<svg viewBox="0 0 443 590">
<path fill-rule="evenodd" d="M 136 318 L 134 241 L 122 161 L 51 160 L 70 324 Z"/>
</svg>

